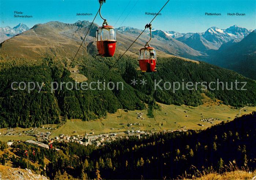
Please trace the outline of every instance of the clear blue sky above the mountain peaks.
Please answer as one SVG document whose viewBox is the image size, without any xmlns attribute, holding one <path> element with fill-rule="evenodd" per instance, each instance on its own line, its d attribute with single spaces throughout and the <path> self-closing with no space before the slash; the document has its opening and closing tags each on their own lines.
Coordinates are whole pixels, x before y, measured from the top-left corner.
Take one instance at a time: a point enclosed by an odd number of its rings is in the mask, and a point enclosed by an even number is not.
<svg viewBox="0 0 256 180">
<path fill-rule="evenodd" d="M 165 0 L 106 0 L 102 15 L 112 26 L 131 26 L 143 29 L 153 16 L 145 12 L 158 12 Z M 134 6 L 135 5 L 135 6 Z M 126 8 L 127 7 L 127 8 Z M 133 8 L 134 7 L 134 8 Z M 97 0 L 0 0 L 0 27 L 14 27 L 19 23 L 33 27 L 38 23 L 61 21 L 75 23 L 78 20 L 92 21 L 99 8 Z M 126 8 L 126 11 L 124 9 Z M 133 8 L 133 9 L 132 9 Z M 132 9 L 132 10 L 131 10 Z M 256 1 L 238 0 L 170 0 L 157 16 L 152 26 L 155 29 L 177 32 L 204 32 L 216 26 L 226 29 L 234 24 L 255 29 Z M 14 11 L 22 11 L 32 18 L 14 18 Z M 76 16 L 77 12 L 93 13 L 92 16 Z M 205 16 L 205 12 L 221 13 L 221 16 Z M 245 16 L 227 16 L 227 13 L 245 13 Z M 119 16 L 123 15 L 118 20 Z M 118 20 L 118 21 L 117 21 Z M 95 22 L 102 20 L 98 15 Z"/>
</svg>

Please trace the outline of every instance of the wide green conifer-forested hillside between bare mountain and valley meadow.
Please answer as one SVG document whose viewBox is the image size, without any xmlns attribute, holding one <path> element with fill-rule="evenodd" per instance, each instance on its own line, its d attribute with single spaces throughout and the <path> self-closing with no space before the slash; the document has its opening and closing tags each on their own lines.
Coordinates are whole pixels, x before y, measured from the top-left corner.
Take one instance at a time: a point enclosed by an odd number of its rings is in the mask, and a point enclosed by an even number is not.
<svg viewBox="0 0 256 180">
<path fill-rule="evenodd" d="M 51 82 L 73 82 L 70 72 L 64 68 L 64 62 L 52 58 L 43 58 L 40 61 L 27 61 L 24 59 L 4 60 L 0 63 L 0 128 L 4 127 L 30 127 L 48 123 L 58 123 L 59 116 L 92 120 L 106 116 L 107 112 L 115 113 L 117 109 L 141 110 L 145 103 L 155 102 L 175 105 L 198 106 L 203 103 L 201 93 L 206 93 L 213 99 L 220 99 L 223 103 L 240 107 L 256 104 L 256 83 L 234 71 L 222 69 L 204 62 L 194 63 L 179 58 L 158 58 L 156 73 L 141 73 L 138 70 L 138 61 L 125 57 L 104 76 L 109 67 L 115 63 L 115 58 L 99 58 L 98 56 L 84 56 L 76 62 L 79 64 L 79 73 L 85 75 L 90 82 L 123 82 L 123 90 L 67 90 L 63 86 L 51 93 Z M 74 66 L 77 65 L 74 62 Z M 65 69 L 65 70 L 64 70 Z M 138 80 L 138 85 L 131 85 L 131 80 Z M 142 86 L 140 80 L 146 80 Z M 154 81 L 163 79 L 159 83 L 168 81 L 170 90 L 154 89 Z M 227 82 L 231 87 L 233 82 L 247 82 L 247 90 L 198 90 L 179 89 L 173 93 L 172 82 L 216 82 L 217 79 Z M 12 82 L 38 82 L 38 88 L 28 93 L 28 90 L 12 90 Z M 102 87 L 103 84 L 100 86 Z M 97 87 L 97 84 L 94 85 Z M 212 84 L 212 88 L 216 87 Z M 16 87 L 16 86 L 15 86 Z M 241 88 L 242 84 L 238 84 Z"/>
</svg>

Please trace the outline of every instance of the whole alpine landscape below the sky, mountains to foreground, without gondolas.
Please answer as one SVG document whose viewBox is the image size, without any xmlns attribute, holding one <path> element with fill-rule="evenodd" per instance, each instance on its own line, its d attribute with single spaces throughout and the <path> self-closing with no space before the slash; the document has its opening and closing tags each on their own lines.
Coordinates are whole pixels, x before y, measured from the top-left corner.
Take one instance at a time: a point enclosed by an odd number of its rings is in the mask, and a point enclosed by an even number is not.
<svg viewBox="0 0 256 180">
<path fill-rule="evenodd" d="M 133 27 L 105 58 L 92 24 L 73 61 L 90 25 L 1 28 L 0 179 L 255 178 L 255 31 L 153 30 L 157 71 L 142 73 L 149 31 L 119 59 Z"/>
</svg>

